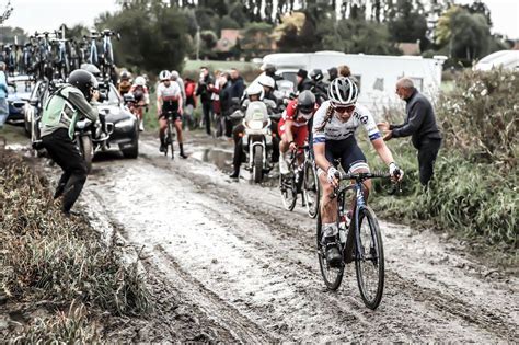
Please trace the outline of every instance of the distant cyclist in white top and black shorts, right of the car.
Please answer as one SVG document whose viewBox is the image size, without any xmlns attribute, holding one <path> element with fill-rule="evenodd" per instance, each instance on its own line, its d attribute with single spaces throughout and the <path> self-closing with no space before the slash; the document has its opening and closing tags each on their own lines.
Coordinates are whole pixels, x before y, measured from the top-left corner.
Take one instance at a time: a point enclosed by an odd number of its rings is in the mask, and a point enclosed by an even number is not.
<svg viewBox="0 0 519 345">
<path fill-rule="evenodd" d="M 184 153 L 184 145 L 182 138 L 182 91 L 176 81 L 171 80 L 171 73 L 163 70 L 159 74 L 160 84 L 157 88 L 157 111 L 159 112 L 159 126 L 160 126 L 160 151 L 165 152 L 165 130 L 168 128 L 168 113 L 173 114 L 173 120 L 175 123 L 176 135 L 178 138 L 178 147 L 181 149 L 181 157 L 187 158 Z"/>
</svg>

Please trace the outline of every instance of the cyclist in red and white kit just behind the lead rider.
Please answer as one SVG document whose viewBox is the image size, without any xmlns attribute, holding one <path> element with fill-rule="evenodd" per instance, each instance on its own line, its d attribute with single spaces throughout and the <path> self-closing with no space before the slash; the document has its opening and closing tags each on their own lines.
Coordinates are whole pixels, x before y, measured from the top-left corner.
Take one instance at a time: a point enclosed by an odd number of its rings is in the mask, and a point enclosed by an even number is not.
<svg viewBox="0 0 519 345">
<path fill-rule="evenodd" d="M 308 123 L 319 108 L 315 96 L 309 90 L 304 90 L 296 100 L 288 103 L 279 120 L 278 133 L 281 136 L 279 143 L 279 172 L 288 174 L 287 153 L 288 150 L 296 151 L 304 146 L 308 139 Z"/>
</svg>

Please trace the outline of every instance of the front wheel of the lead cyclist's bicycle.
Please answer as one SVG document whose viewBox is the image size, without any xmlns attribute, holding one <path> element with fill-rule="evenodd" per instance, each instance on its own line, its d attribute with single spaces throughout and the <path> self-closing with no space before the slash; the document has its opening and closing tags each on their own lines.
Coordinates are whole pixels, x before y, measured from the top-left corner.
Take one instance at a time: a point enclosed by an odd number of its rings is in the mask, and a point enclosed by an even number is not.
<svg viewBox="0 0 519 345">
<path fill-rule="evenodd" d="M 360 248 L 355 250 L 360 297 L 366 307 L 374 310 L 384 290 L 384 252 L 379 222 L 371 208 L 362 207 L 359 210 L 359 221 L 355 228 L 358 229 L 360 242 Z"/>
</svg>

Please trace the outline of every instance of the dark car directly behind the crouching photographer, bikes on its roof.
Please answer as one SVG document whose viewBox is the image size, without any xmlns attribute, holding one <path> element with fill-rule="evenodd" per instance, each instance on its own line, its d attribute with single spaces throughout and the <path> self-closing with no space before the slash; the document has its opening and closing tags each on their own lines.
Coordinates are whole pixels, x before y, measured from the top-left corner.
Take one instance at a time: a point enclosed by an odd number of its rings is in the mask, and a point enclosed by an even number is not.
<svg viewBox="0 0 519 345">
<path fill-rule="evenodd" d="M 34 143 L 38 126 L 38 119 L 42 117 L 43 105 L 47 101 L 53 85 L 48 81 L 37 81 L 25 105 L 25 130 Z M 97 104 L 101 115 L 106 118 L 109 138 L 107 146 L 97 148 L 109 150 L 118 148 L 126 158 L 137 158 L 139 154 L 139 128 L 137 117 L 125 106 L 122 96 L 114 84 L 102 84 L 102 94 L 104 100 Z"/>
</svg>

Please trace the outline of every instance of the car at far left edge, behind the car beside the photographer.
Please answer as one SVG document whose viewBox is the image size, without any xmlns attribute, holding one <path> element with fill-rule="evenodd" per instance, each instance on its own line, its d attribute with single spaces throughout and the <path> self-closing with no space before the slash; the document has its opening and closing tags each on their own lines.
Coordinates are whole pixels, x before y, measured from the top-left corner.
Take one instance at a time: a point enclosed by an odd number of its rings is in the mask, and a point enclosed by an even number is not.
<svg viewBox="0 0 519 345">
<path fill-rule="evenodd" d="M 34 81 L 28 76 L 15 76 L 8 78 L 8 122 L 21 124 L 24 122 L 24 111 L 27 99 L 33 90 Z"/>
</svg>

